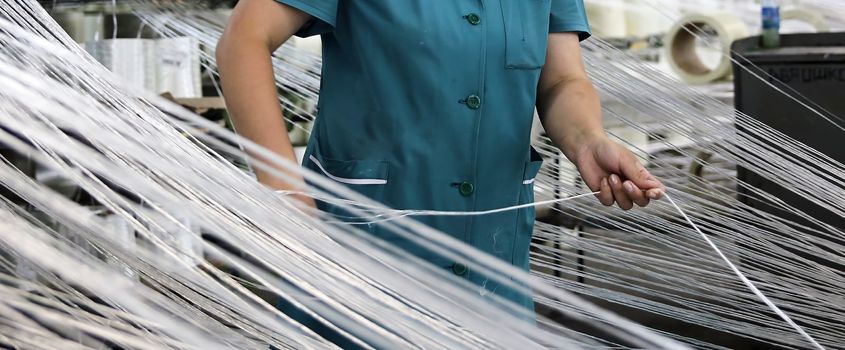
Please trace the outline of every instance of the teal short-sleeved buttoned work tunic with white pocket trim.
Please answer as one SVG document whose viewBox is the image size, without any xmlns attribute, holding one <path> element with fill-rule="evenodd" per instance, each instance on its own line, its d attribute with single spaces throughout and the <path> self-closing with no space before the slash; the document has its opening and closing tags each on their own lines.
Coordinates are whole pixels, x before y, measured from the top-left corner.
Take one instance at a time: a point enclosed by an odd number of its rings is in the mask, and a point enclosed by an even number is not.
<svg viewBox="0 0 845 350">
<path fill-rule="evenodd" d="M 277 0 L 322 35 L 318 116 L 304 166 L 396 209 L 479 211 L 530 203 L 529 145 L 549 32 L 589 36 L 582 0 Z M 329 212 L 338 212 L 323 206 Z M 423 223 L 528 269 L 534 210 Z M 532 308 L 460 261 L 362 226 Z"/>
</svg>

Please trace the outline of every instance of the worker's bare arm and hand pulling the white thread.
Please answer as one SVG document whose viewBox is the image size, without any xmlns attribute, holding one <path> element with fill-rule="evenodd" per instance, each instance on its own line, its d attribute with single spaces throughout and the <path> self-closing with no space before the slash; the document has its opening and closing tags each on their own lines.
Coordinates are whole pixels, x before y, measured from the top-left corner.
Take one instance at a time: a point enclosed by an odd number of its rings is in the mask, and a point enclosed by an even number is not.
<svg viewBox="0 0 845 350">
<path fill-rule="evenodd" d="M 552 33 L 540 75 L 537 110 L 546 133 L 581 173 L 587 186 L 601 191 L 604 205 L 628 210 L 646 206 L 663 186 L 625 147 L 604 132 L 601 104 L 581 59 L 574 33 Z"/>
</svg>

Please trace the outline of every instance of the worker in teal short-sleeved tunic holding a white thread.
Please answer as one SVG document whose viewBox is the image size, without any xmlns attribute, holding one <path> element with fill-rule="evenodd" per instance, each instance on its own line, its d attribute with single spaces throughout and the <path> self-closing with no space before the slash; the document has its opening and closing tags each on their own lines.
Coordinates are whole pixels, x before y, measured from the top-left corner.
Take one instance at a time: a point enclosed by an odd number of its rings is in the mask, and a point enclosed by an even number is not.
<svg viewBox="0 0 845 350">
<path fill-rule="evenodd" d="M 241 0 L 217 48 L 226 102 L 241 135 L 294 161 L 270 61 L 292 35 L 321 35 L 323 43 L 319 112 L 303 165 L 389 207 L 479 211 L 532 202 L 542 161 L 529 145 L 535 107 L 603 204 L 627 210 L 663 193 L 603 131 L 581 60 L 579 41 L 590 36 L 582 0 Z M 257 176 L 277 189 L 298 185 Z M 419 220 L 528 269 L 533 208 Z M 530 295 L 500 288 L 465 262 L 367 229 L 533 308 Z"/>
</svg>

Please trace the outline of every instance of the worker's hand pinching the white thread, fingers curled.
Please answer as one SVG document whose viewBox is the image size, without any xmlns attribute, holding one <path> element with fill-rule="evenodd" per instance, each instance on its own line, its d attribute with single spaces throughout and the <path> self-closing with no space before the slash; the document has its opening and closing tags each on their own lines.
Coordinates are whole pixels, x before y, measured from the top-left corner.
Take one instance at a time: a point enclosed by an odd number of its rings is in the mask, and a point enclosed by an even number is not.
<svg viewBox="0 0 845 350">
<path fill-rule="evenodd" d="M 607 136 L 596 136 L 579 145 L 575 165 L 581 178 L 607 206 L 615 202 L 623 210 L 641 207 L 663 196 L 664 187 L 627 148 Z"/>
</svg>

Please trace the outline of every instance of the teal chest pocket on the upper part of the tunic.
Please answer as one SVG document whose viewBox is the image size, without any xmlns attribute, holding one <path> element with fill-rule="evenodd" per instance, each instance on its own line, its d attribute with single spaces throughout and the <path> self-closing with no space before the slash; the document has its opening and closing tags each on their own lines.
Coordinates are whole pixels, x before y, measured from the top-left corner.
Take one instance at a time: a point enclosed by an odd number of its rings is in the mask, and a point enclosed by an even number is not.
<svg viewBox="0 0 845 350">
<path fill-rule="evenodd" d="M 539 69 L 546 63 L 551 0 L 504 0 L 505 68 Z"/>
</svg>

